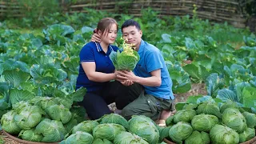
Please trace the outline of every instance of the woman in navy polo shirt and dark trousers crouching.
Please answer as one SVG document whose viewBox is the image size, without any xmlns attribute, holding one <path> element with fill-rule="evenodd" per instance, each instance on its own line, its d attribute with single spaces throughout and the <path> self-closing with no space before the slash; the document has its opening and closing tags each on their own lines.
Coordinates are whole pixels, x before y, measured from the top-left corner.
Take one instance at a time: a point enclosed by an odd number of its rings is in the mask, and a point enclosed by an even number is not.
<svg viewBox="0 0 256 144">
<path fill-rule="evenodd" d="M 76 89 L 86 87 L 87 93 L 79 105 L 84 106 L 91 119 L 101 118 L 110 114 L 108 104 L 114 102 L 113 82 L 116 78 L 114 65 L 110 60 L 111 51 L 117 51 L 117 46 L 111 46 L 117 38 L 118 23 L 113 18 L 102 18 L 98 22 L 97 33 L 101 42 L 89 42 L 80 52 L 80 67 Z"/>
</svg>

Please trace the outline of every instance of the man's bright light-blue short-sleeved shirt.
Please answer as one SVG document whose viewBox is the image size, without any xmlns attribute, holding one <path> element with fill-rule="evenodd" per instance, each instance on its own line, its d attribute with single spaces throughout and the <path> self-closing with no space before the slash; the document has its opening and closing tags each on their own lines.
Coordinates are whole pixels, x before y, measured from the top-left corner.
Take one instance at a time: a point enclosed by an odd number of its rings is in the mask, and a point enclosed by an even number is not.
<svg viewBox="0 0 256 144">
<path fill-rule="evenodd" d="M 142 40 L 138 49 L 138 54 L 140 56 L 140 60 L 134 69 L 135 75 L 147 78 L 151 77 L 150 72 L 158 69 L 161 70 L 161 86 L 144 86 L 146 94 L 152 94 L 158 98 L 174 99 L 172 91 L 173 84 L 166 67 L 166 62 L 164 61 L 160 50 Z"/>
</svg>

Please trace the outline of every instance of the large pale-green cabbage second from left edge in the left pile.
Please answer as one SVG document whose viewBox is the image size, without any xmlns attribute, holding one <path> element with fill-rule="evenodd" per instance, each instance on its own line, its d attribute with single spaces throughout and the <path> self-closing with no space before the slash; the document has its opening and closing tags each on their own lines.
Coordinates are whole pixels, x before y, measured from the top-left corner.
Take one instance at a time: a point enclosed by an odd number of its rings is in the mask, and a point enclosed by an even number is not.
<svg viewBox="0 0 256 144">
<path fill-rule="evenodd" d="M 43 111 L 39 106 L 23 107 L 19 114 L 14 116 L 14 121 L 22 130 L 30 130 L 41 121 Z"/>
</svg>

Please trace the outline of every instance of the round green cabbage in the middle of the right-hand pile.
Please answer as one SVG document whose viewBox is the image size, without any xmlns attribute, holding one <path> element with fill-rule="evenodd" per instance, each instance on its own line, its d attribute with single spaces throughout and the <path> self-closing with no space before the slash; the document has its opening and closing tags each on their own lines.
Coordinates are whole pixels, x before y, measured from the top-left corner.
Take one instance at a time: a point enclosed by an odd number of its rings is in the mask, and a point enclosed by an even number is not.
<svg viewBox="0 0 256 144">
<path fill-rule="evenodd" d="M 210 129 L 216 124 L 218 124 L 218 118 L 210 114 L 198 114 L 191 121 L 194 130 L 206 132 L 210 132 Z"/>
</svg>

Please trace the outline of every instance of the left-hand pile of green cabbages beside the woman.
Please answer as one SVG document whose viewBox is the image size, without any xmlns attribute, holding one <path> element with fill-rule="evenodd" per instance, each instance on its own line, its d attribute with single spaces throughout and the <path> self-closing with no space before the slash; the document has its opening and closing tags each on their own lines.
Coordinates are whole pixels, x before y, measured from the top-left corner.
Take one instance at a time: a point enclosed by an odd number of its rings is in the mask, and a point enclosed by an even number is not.
<svg viewBox="0 0 256 144">
<path fill-rule="evenodd" d="M 2 115 L 2 130 L 30 142 L 60 142 L 85 120 L 85 109 L 72 104 L 70 99 L 54 97 L 13 103 L 12 110 Z"/>
</svg>

